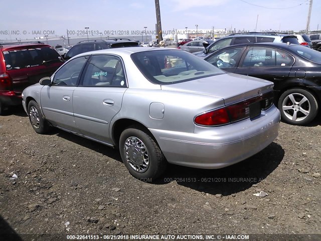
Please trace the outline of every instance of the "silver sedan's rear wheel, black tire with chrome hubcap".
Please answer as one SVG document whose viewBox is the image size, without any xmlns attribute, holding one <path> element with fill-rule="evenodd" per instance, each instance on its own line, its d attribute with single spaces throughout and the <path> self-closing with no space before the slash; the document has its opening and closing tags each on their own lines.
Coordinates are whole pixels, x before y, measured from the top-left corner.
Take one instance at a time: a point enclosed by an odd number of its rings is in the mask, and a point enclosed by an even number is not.
<svg viewBox="0 0 321 241">
<path fill-rule="evenodd" d="M 141 143 L 143 144 L 143 148 L 140 148 L 141 151 L 144 151 L 144 154 L 140 154 L 139 152 L 132 151 L 132 158 L 128 157 L 127 160 L 127 154 L 129 151 L 126 151 L 126 146 L 128 147 L 128 143 L 131 143 L 131 141 L 138 141 L 139 145 L 141 146 Z M 125 145 L 125 142 L 127 141 L 127 145 Z M 140 143 L 140 142 L 141 143 Z M 138 144 L 137 144 L 138 145 Z M 133 148 L 134 149 L 134 148 Z M 128 129 L 125 129 L 119 139 L 119 151 L 120 156 L 125 164 L 126 168 L 128 169 L 129 173 L 137 178 L 138 180 L 144 181 L 144 182 L 153 182 L 157 179 L 157 177 L 161 176 L 167 166 L 167 161 L 163 155 L 163 152 L 158 147 L 158 145 L 155 143 L 153 138 L 147 131 L 140 128 L 139 126 L 132 126 Z M 141 155 L 140 158 L 148 157 L 148 165 L 146 167 L 140 165 L 139 163 L 135 163 L 135 161 L 139 161 L 139 155 Z M 134 156 L 134 157 L 133 157 Z M 136 159 L 137 157 L 137 159 Z M 145 163 L 144 163 L 145 164 Z M 136 166 L 136 170 L 134 169 Z M 141 168 L 142 170 L 137 171 Z"/>
</svg>

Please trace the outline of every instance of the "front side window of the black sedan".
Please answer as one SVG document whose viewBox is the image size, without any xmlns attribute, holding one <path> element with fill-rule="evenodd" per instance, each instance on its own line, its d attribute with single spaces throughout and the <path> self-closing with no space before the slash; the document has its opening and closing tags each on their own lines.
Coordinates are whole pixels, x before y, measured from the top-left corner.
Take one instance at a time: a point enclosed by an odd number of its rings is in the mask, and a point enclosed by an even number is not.
<svg viewBox="0 0 321 241">
<path fill-rule="evenodd" d="M 237 67 L 237 63 L 242 56 L 243 48 L 233 48 L 220 51 L 217 54 L 211 55 L 207 62 L 210 64 L 222 68 L 234 68 Z"/>
</svg>

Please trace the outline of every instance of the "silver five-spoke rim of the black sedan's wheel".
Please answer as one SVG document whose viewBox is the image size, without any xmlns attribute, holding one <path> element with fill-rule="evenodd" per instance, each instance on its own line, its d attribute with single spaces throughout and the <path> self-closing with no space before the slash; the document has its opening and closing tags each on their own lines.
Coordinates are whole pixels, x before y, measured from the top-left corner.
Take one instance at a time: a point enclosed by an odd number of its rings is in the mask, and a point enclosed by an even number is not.
<svg viewBox="0 0 321 241">
<path fill-rule="evenodd" d="M 309 100 L 300 93 L 287 95 L 282 102 L 282 111 L 291 121 L 303 121 L 309 114 L 311 105 Z"/>
</svg>

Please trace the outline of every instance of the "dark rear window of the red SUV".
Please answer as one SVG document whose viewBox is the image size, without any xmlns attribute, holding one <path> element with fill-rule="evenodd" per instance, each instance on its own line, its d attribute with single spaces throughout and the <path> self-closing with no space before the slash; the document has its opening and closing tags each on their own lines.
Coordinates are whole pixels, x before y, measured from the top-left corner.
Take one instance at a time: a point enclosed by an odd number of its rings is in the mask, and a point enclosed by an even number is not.
<svg viewBox="0 0 321 241">
<path fill-rule="evenodd" d="M 22 69 L 38 66 L 44 63 L 62 62 L 62 58 L 51 47 L 10 50 L 3 52 L 6 68 Z"/>
</svg>

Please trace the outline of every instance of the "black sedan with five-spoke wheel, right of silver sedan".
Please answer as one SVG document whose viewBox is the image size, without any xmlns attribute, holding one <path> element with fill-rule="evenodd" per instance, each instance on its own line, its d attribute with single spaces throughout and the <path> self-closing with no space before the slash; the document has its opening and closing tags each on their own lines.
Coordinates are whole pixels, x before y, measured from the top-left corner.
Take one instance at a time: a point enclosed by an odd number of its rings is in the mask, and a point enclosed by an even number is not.
<svg viewBox="0 0 321 241">
<path fill-rule="evenodd" d="M 223 48 L 205 58 L 227 72 L 274 82 L 284 122 L 310 123 L 321 104 L 321 53 L 296 44 L 256 43 Z"/>
</svg>

